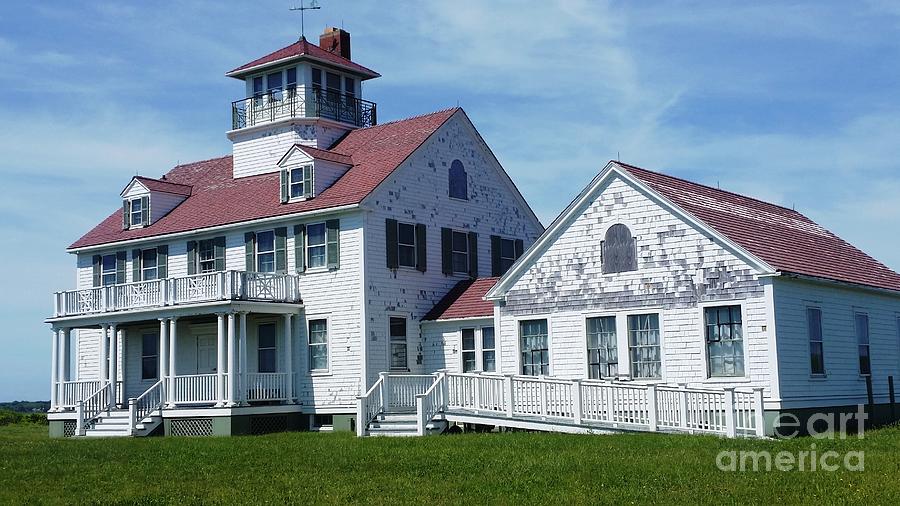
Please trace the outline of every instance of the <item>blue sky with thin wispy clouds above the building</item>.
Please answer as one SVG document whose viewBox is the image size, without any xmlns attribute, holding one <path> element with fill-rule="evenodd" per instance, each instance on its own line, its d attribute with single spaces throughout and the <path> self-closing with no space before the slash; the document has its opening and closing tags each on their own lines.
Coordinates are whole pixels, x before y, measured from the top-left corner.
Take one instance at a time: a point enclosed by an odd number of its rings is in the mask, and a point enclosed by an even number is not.
<svg viewBox="0 0 900 506">
<path fill-rule="evenodd" d="M 545 224 L 618 153 L 900 269 L 896 2 L 320 3 L 308 38 L 350 31 L 379 119 L 462 105 Z M 224 72 L 299 35 L 291 0 L 149 4 L 0 9 L 0 401 L 49 397 L 65 247 L 132 175 L 229 153 Z"/>
</svg>

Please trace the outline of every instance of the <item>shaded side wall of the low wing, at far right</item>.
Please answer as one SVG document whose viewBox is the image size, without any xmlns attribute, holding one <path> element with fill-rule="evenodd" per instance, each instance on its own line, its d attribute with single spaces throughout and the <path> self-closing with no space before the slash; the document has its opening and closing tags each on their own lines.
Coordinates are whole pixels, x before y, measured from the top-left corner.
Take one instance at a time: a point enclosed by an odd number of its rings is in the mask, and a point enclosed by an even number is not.
<svg viewBox="0 0 900 506">
<path fill-rule="evenodd" d="M 859 374 L 854 315 L 869 315 L 876 402 L 887 400 L 887 377 L 900 382 L 900 295 L 841 288 L 789 278 L 774 280 L 778 379 L 786 406 L 867 402 Z M 811 377 L 807 308 L 822 311 L 826 376 Z"/>
</svg>

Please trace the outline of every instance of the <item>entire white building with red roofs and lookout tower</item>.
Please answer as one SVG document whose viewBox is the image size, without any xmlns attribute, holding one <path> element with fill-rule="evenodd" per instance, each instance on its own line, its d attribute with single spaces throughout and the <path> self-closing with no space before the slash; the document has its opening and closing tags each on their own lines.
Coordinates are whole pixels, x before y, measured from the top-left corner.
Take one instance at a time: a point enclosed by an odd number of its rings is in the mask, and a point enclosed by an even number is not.
<svg viewBox="0 0 900 506">
<path fill-rule="evenodd" d="M 900 275 L 802 214 L 610 162 L 544 230 L 461 109 L 378 124 L 343 30 L 227 75 L 232 155 L 69 247 L 51 435 L 893 416 Z"/>
</svg>

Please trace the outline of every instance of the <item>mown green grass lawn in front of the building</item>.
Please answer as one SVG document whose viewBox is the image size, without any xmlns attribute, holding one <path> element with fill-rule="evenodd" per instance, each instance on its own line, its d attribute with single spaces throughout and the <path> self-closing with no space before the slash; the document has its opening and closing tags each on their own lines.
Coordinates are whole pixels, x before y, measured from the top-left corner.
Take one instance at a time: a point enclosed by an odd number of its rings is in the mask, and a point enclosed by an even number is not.
<svg viewBox="0 0 900 506">
<path fill-rule="evenodd" d="M 865 471 L 722 472 L 722 450 L 864 451 Z M 900 504 L 900 429 L 844 441 L 626 434 L 49 439 L 0 427 L 0 503 Z"/>
</svg>

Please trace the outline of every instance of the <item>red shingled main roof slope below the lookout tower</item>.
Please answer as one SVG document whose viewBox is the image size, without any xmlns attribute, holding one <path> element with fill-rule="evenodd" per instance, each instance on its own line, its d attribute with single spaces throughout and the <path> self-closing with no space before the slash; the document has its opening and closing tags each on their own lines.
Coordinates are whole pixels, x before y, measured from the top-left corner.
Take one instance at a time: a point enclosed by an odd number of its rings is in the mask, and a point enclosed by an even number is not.
<svg viewBox="0 0 900 506">
<path fill-rule="evenodd" d="M 358 204 L 458 110 L 351 131 L 329 151 L 350 157 L 353 167 L 320 195 L 303 202 L 279 202 L 278 173 L 234 179 L 231 156 L 179 165 L 166 174 L 166 181 L 191 185 L 193 192 L 169 214 L 149 227 L 123 230 L 122 211 L 117 210 L 69 248 Z"/>
</svg>

